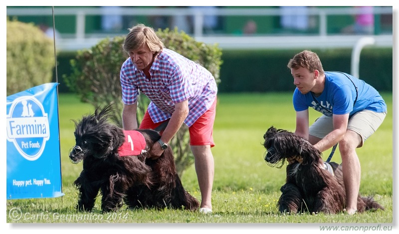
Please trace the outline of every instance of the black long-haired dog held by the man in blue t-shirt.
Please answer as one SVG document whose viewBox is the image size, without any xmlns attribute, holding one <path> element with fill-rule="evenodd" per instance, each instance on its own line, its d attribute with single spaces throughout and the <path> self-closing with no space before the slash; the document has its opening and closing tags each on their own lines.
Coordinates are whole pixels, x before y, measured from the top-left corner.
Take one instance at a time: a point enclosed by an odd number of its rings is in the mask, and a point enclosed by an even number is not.
<svg viewBox="0 0 399 234">
<path fill-rule="evenodd" d="M 286 183 L 277 206 L 281 213 L 308 211 L 336 214 L 346 207 L 342 165 L 331 162 L 333 174 L 325 170 L 322 154 L 305 139 L 283 129 L 270 127 L 263 136 L 269 166 L 287 166 Z M 384 208 L 371 197 L 358 196 L 358 212 Z"/>
</svg>

